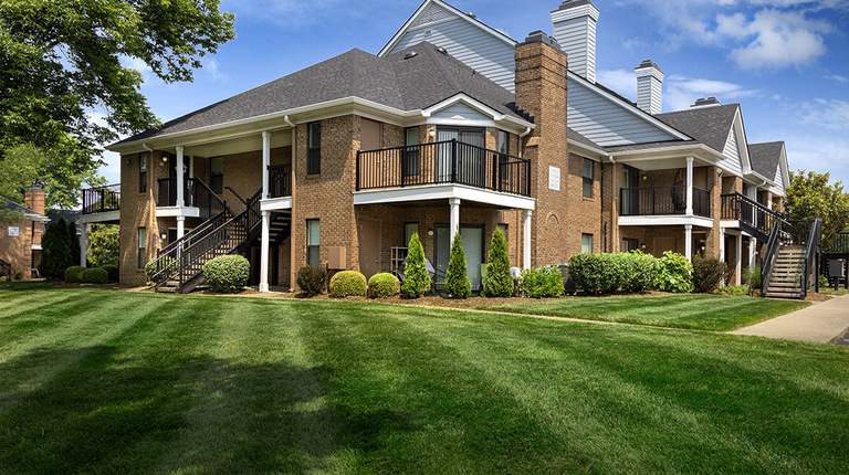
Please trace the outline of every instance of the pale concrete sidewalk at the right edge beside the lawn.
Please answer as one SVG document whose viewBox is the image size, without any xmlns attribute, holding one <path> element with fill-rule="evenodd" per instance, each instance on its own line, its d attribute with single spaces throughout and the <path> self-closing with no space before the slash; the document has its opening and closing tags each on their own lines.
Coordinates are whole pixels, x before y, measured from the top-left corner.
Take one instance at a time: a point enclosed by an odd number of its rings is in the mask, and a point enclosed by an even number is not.
<svg viewBox="0 0 849 475">
<path fill-rule="evenodd" d="M 849 295 L 842 295 L 729 334 L 827 344 L 848 328 Z"/>
</svg>

